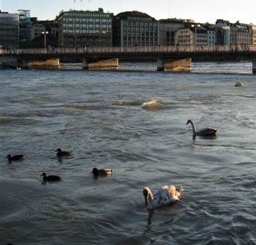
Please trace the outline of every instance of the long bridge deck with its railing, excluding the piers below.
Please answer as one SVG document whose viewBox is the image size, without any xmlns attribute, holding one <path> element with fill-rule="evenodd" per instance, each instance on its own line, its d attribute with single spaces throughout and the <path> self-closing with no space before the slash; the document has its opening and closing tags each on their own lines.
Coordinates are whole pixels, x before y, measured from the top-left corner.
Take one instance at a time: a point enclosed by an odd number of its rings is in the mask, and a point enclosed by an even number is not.
<svg viewBox="0 0 256 245">
<path fill-rule="evenodd" d="M 193 61 L 252 61 L 256 59 L 256 45 L 2 49 L 0 56 L 60 59 L 62 62 L 113 58 L 136 61 L 187 58 Z"/>
</svg>

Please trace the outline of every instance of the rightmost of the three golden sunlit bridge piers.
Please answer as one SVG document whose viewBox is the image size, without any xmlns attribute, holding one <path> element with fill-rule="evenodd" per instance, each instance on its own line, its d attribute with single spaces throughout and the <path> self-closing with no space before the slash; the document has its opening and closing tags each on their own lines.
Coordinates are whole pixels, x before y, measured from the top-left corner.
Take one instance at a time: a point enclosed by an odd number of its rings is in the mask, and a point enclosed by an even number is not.
<svg viewBox="0 0 256 245">
<path fill-rule="evenodd" d="M 157 71 L 161 72 L 190 72 L 191 59 L 157 59 Z"/>
</svg>

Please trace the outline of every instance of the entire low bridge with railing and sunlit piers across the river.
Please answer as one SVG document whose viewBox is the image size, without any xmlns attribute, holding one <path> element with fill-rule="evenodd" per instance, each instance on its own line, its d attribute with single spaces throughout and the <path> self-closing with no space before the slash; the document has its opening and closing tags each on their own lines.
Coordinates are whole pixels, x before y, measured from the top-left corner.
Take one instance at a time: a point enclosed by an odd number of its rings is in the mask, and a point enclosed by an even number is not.
<svg viewBox="0 0 256 245">
<path fill-rule="evenodd" d="M 157 61 L 157 70 L 165 72 L 188 72 L 191 61 L 252 61 L 256 73 L 256 45 L 0 50 L 3 67 L 58 69 L 60 63 L 81 63 L 83 69 L 118 69 L 119 61 Z"/>
</svg>

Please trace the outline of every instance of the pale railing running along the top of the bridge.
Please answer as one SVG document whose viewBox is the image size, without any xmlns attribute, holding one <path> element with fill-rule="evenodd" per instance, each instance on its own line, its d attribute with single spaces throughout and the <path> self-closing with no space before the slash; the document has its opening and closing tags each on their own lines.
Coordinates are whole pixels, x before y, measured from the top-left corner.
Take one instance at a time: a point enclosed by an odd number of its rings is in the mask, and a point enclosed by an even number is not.
<svg viewBox="0 0 256 245">
<path fill-rule="evenodd" d="M 256 52 L 256 45 L 176 45 L 155 47 L 87 47 L 87 48 L 26 48 L 0 49 L 4 54 L 47 54 L 47 53 L 157 53 L 157 52 Z"/>
</svg>

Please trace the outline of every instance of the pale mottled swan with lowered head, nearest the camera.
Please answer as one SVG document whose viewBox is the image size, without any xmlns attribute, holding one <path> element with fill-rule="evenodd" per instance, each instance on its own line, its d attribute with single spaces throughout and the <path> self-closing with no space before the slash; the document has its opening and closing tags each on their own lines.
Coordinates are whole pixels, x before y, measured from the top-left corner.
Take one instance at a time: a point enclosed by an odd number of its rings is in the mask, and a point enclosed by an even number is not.
<svg viewBox="0 0 256 245">
<path fill-rule="evenodd" d="M 182 186 L 176 189 L 176 186 L 165 185 L 153 195 L 151 189 L 144 187 L 143 196 L 145 198 L 145 206 L 149 210 L 175 203 L 177 200 L 180 200 L 183 190 Z"/>
</svg>

